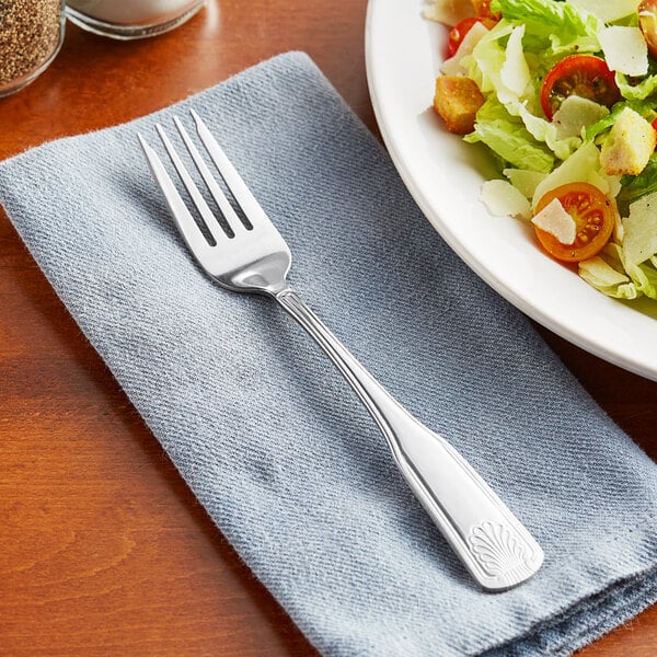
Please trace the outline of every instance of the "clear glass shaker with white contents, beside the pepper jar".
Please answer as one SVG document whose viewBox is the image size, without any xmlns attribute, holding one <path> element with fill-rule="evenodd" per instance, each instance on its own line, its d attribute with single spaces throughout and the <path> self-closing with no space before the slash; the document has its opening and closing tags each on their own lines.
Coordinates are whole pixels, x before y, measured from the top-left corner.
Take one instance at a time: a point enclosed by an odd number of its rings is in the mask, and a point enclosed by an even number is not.
<svg viewBox="0 0 657 657">
<path fill-rule="evenodd" d="M 204 4 L 205 0 L 67 0 L 67 14 L 89 32 L 134 39 L 169 32 Z"/>
</svg>

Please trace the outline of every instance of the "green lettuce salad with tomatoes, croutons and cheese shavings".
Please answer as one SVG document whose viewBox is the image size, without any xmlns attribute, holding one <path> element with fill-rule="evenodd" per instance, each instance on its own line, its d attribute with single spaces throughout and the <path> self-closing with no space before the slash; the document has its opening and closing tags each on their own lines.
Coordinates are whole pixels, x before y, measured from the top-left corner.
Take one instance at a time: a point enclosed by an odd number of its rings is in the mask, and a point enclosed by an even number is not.
<svg viewBox="0 0 657 657">
<path fill-rule="evenodd" d="M 603 293 L 657 299 L 657 0 L 434 0 L 434 107 L 484 143 L 493 215 Z"/>
</svg>

